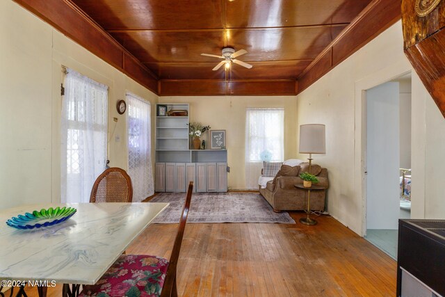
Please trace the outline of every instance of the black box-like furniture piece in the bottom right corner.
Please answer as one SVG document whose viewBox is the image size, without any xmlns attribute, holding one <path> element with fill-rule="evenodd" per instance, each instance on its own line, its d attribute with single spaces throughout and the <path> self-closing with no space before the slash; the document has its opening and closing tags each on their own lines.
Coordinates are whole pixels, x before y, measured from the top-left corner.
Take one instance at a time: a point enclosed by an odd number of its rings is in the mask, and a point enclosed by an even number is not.
<svg viewBox="0 0 445 297">
<path fill-rule="evenodd" d="M 397 296 L 445 296 L 444 275 L 445 220 L 398 220 Z"/>
</svg>

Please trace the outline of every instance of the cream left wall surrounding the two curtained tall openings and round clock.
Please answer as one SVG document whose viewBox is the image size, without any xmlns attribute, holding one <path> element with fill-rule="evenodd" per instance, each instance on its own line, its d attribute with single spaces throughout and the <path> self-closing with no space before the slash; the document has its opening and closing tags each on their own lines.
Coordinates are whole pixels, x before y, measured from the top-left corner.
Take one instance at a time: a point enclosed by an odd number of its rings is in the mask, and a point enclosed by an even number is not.
<svg viewBox="0 0 445 297">
<path fill-rule="evenodd" d="M 127 113 L 115 104 L 127 91 L 153 106 L 157 96 L 10 0 L 0 0 L 0 40 L 0 209 L 60 200 L 62 65 L 109 86 L 108 131 L 116 117 L 121 136 L 109 158 L 127 168 Z"/>
</svg>

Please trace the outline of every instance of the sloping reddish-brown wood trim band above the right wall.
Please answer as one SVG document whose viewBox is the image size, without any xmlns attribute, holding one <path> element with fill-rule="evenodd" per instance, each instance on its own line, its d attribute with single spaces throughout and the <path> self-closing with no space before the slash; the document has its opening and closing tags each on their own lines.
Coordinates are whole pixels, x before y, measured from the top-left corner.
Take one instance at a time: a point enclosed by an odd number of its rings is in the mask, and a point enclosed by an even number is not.
<svg viewBox="0 0 445 297">
<path fill-rule="evenodd" d="M 401 19 L 401 3 L 374 0 L 298 76 L 298 94 Z"/>
</svg>

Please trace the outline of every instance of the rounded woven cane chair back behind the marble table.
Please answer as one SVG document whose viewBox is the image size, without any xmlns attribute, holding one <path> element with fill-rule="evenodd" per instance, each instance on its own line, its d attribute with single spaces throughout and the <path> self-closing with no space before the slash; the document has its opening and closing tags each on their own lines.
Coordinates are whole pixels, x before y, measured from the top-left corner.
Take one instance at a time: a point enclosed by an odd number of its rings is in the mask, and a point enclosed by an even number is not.
<svg viewBox="0 0 445 297">
<path fill-rule="evenodd" d="M 131 202 L 133 186 L 125 170 L 117 167 L 106 169 L 92 186 L 90 202 Z"/>
</svg>

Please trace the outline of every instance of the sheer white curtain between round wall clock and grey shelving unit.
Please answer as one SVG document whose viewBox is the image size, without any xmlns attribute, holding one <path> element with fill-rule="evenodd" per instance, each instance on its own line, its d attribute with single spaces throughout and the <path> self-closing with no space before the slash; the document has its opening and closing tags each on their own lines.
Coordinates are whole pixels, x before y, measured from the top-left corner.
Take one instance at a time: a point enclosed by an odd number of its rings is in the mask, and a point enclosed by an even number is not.
<svg viewBox="0 0 445 297">
<path fill-rule="evenodd" d="M 128 174 L 133 183 L 133 202 L 154 194 L 151 156 L 151 106 L 136 95 L 127 94 Z"/>
</svg>

